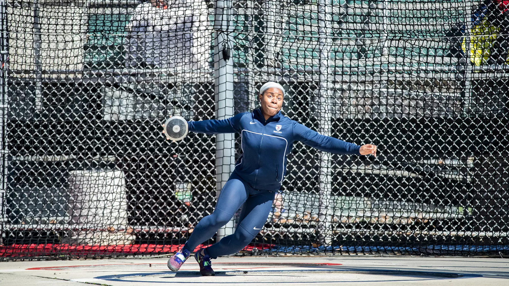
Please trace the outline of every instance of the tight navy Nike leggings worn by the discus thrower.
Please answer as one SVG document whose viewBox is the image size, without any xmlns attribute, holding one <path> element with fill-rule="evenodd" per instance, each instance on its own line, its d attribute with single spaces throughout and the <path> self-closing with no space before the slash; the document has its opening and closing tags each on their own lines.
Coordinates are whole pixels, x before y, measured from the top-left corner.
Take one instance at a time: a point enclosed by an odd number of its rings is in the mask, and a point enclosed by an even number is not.
<svg viewBox="0 0 509 286">
<path fill-rule="evenodd" d="M 227 224 L 244 204 L 235 233 L 207 247 L 205 254 L 217 258 L 240 251 L 251 242 L 267 221 L 274 195 L 275 192 L 253 189 L 234 172 L 219 193 L 216 208 L 194 227 L 184 248 L 193 252 L 196 246 L 211 238 L 221 226 Z"/>
</svg>

